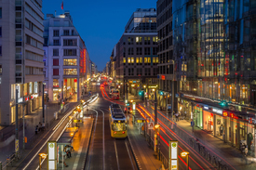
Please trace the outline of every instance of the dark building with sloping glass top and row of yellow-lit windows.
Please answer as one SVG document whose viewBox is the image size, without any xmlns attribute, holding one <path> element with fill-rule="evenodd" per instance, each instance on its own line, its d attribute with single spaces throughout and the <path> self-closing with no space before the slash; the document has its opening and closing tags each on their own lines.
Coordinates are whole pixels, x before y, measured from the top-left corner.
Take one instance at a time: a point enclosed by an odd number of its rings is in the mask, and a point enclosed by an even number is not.
<svg viewBox="0 0 256 170">
<path fill-rule="evenodd" d="M 136 96 L 143 90 L 144 96 L 153 98 L 152 89 L 157 84 L 157 40 L 155 8 L 137 9 L 115 46 L 116 85 L 121 98 L 126 89 Z"/>
</svg>

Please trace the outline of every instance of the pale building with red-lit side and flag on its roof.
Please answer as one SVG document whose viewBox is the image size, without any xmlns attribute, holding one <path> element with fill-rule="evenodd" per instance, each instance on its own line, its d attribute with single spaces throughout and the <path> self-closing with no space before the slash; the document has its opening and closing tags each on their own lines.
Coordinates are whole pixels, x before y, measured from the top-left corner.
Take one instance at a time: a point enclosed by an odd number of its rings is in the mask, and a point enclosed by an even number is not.
<svg viewBox="0 0 256 170">
<path fill-rule="evenodd" d="M 73 99 L 86 93 L 88 50 L 76 31 L 69 12 L 60 16 L 47 14 L 44 20 L 46 83 L 49 101 Z"/>
</svg>

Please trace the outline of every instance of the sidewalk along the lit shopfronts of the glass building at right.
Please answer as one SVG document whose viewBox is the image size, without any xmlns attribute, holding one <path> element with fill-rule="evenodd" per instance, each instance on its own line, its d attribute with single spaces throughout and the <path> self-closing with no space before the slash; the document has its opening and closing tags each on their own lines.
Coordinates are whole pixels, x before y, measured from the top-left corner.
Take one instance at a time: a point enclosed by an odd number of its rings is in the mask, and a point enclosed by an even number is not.
<svg viewBox="0 0 256 170">
<path fill-rule="evenodd" d="M 145 106 L 143 101 L 141 101 L 141 106 L 143 106 L 146 110 L 150 112 L 154 112 L 151 106 Z M 166 111 L 159 112 L 166 116 L 168 121 L 171 122 L 171 114 L 167 114 Z M 166 119 L 163 116 L 161 116 L 161 114 L 158 115 L 158 119 Z M 175 122 L 175 124 L 176 125 L 174 125 L 173 131 L 179 137 L 185 137 L 183 139 L 187 143 L 189 143 L 188 138 L 197 138 L 198 142 L 201 145 L 205 146 L 206 150 L 211 150 L 213 154 L 215 153 L 215 155 L 221 158 L 222 163 L 230 163 L 236 169 L 255 169 L 256 163 L 251 163 L 252 161 L 255 160 L 255 158 L 247 157 L 246 161 L 243 155 L 241 154 L 240 150 L 237 150 L 236 148 L 230 146 L 227 143 L 224 143 L 221 139 L 217 137 L 213 137 L 212 135 L 210 135 L 206 131 L 201 130 L 198 127 L 194 127 L 193 133 L 190 122 L 181 120 L 179 122 Z"/>
</svg>

